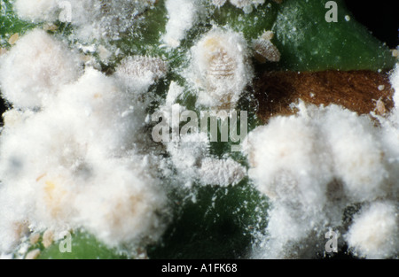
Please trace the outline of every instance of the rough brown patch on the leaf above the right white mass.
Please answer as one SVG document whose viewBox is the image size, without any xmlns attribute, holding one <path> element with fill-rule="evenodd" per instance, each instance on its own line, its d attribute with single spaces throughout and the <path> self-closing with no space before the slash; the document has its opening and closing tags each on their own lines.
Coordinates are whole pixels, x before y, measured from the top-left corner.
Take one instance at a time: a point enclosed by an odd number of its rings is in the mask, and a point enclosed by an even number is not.
<svg viewBox="0 0 399 277">
<path fill-rule="evenodd" d="M 295 113 L 292 104 L 299 99 L 318 106 L 339 104 L 358 114 L 385 114 L 394 106 L 387 73 L 372 71 L 266 72 L 254 88 L 258 117 L 264 123 L 276 115 Z"/>
</svg>

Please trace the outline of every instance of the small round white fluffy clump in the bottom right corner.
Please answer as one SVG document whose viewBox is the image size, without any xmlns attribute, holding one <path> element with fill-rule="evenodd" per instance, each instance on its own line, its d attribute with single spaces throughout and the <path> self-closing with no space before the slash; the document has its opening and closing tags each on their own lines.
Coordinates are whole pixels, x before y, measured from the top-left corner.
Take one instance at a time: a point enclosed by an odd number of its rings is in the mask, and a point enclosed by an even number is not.
<svg viewBox="0 0 399 277">
<path fill-rule="evenodd" d="M 348 246 L 362 258 L 392 258 L 399 253 L 397 203 L 376 202 L 356 214 L 346 235 Z"/>
</svg>

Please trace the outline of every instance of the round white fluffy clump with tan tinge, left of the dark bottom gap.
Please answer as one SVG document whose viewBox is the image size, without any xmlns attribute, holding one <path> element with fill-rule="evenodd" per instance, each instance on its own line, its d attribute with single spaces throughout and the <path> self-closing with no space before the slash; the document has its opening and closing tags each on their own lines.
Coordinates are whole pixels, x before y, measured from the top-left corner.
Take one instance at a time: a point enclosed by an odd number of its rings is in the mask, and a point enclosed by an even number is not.
<svg viewBox="0 0 399 277">
<path fill-rule="evenodd" d="M 98 169 L 93 183 L 76 196 L 78 222 L 110 246 L 158 239 L 164 222 L 155 212 L 164 208 L 166 197 L 145 166 L 110 159 Z"/>
</svg>

